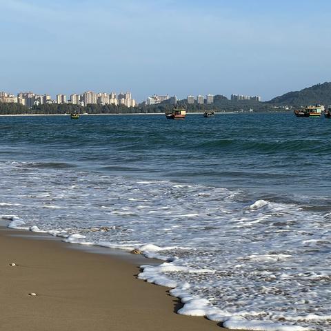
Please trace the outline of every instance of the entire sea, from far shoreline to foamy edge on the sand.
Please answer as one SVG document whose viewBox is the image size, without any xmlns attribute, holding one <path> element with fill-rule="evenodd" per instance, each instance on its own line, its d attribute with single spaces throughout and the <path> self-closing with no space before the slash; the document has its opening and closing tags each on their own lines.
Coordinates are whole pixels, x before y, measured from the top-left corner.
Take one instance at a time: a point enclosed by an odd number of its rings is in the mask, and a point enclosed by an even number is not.
<svg viewBox="0 0 331 331">
<path fill-rule="evenodd" d="M 1 117 L 0 215 L 163 260 L 139 277 L 180 314 L 331 330 L 330 132 L 292 114 Z"/>
</svg>

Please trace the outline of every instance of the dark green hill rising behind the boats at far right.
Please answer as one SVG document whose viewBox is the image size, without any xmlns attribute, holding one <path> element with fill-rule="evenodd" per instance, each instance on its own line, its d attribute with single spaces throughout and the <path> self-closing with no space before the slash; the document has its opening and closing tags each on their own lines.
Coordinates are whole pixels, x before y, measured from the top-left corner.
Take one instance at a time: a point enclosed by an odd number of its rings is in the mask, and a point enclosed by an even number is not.
<svg viewBox="0 0 331 331">
<path fill-rule="evenodd" d="M 266 103 L 277 106 L 307 106 L 315 103 L 330 105 L 331 83 L 317 84 L 301 91 L 288 92 Z"/>
</svg>

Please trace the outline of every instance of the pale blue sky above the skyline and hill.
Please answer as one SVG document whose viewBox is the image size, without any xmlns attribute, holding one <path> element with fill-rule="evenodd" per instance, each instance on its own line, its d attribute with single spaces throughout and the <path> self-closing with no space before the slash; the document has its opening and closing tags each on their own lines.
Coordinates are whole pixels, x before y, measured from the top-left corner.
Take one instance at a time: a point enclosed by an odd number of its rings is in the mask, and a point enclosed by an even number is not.
<svg viewBox="0 0 331 331">
<path fill-rule="evenodd" d="M 0 0 L 0 91 L 260 95 L 331 81 L 329 0 Z"/>
</svg>

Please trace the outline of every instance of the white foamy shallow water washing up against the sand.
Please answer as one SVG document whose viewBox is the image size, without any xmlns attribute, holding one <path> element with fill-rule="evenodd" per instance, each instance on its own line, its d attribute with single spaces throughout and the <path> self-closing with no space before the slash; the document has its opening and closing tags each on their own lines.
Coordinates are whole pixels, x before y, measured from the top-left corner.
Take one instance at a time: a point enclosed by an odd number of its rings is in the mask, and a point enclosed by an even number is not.
<svg viewBox="0 0 331 331">
<path fill-rule="evenodd" d="M 180 314 L 241 330 L 331 330 L 326 213 L 241 202 L 236 190 L 28 163 L 6 163 L 1 175 L 10 228 L 163 260 L 143 265 L 139 278 L 172 288 Z"/>
</svg>

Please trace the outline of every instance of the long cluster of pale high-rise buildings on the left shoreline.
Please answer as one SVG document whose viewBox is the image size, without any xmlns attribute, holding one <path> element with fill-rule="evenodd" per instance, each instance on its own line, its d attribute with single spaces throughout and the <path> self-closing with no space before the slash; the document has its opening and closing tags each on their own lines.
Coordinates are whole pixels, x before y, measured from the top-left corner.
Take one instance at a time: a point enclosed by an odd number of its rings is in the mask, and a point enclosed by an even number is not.
<svg viewBox="0 0 331 331">
<path fill-rule="evenodd" d="M 72 103 L 79 106 L 87 106 L 88 104 L 99 105 L 123 105 L 126 107 L 135 107 L 137 103 L 132 99 L 131 92 L 119 93 L 94 93 L 92 91 L 84 92 L 82 94 L 71 94 L 70 99 L 67 99 L 66 94 L 57 94 L 56 99 L 52 99 L 49 94 L 35 94 L 34 92 L 20 92 L 17 97 L 14 94 L 7 92 L 0 92 L 1 103 L 20 103 L 23 106 L 32 108 L 43 104 L 63 104 Z"/>
</svg>

